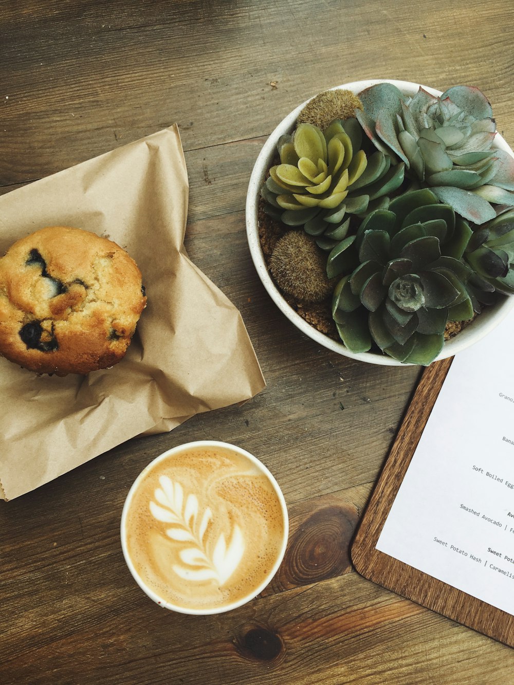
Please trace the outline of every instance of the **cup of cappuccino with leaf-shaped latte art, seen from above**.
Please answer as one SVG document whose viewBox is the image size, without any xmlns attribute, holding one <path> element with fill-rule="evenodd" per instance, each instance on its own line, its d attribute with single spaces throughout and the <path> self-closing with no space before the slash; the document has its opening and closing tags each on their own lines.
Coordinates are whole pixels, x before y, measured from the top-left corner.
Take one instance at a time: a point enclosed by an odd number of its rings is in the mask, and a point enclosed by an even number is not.
<svg viewBox="0 0 514 685">
<path fill-rule="evenodd" d="M 162 606 L 190 614 L 253 599 L 284 556 L 284 497 L 243 449 L 202 441 L 175 447 L 139 475 L 121 541 L 136 582 Z"/>
</svg>

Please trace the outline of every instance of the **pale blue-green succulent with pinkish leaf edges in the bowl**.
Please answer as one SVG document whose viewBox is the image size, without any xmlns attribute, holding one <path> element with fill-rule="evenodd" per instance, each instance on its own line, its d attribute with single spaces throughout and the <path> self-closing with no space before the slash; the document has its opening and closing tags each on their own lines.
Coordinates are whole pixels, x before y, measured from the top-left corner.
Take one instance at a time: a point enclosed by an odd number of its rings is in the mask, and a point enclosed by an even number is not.
<svg viewBox="0 0 514 685">
<path fill-rule="evenodd" d="M 514 159 L 492 147 L 493 112 L 478 88 L 454 86 L 441 97 L 419 88 L 408 98 L 380 83 L 359 99 L 356 118 L 376 148 L 465 219 L 482 224 L 495 216 L 491 203 L 514 204 Z"/>
</svg>

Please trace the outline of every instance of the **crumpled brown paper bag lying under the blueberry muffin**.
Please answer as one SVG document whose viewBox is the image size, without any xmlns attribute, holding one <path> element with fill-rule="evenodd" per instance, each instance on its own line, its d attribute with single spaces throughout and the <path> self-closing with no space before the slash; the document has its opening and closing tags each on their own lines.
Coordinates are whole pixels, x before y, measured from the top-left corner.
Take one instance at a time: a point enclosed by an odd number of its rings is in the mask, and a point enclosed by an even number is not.
<svg viewBox="0 0 514 685">
<path fill-rule="evenodd" d="M 0 359 L 3 499 L 265 386 L 241 315 L 184 250 L 187 206 L 176 126 L 0 197 L 0 253 L 45 226 L 83 228 L 127 250 L 148 295 L 112 369 L 60 378 Z"/>
</svg>

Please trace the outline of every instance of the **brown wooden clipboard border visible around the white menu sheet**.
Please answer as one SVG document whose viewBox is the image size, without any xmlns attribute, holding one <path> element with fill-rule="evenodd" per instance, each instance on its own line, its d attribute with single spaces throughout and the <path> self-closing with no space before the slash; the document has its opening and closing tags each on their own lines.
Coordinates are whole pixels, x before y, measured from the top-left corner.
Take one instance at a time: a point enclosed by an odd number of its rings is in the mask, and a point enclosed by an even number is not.
<svg viewBox="0 0 514 685">
<path fill-rule="evenodd" d="M 358 527 L 351 548 L 352 562 L 356 571 L 368 580 L 514 647 L 514 616 L 376 549 L 384 522 L 452 360 L 450 358 L 430 364 L 421 376 Z"/>
</svg>

